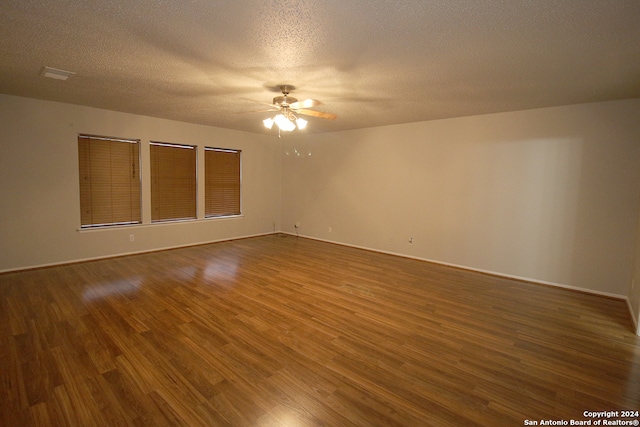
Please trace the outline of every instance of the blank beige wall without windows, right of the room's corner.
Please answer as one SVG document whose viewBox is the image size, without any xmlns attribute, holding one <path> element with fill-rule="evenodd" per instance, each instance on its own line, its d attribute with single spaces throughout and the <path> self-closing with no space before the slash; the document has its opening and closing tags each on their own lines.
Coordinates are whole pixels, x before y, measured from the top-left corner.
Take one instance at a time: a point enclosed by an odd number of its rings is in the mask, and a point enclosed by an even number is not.
<svg viewBox="0 0 640 427">
<path fill-rule="evenodd" d="M 639 118 L 629 100 L 287 138 L 282 228 L 627 297 Z"/>
</svg>

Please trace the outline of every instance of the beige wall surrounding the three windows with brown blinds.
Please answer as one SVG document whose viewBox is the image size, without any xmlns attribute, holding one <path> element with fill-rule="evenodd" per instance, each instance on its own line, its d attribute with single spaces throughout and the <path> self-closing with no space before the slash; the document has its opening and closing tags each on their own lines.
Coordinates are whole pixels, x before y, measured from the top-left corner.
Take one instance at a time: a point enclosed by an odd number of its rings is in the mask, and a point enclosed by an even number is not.
<svg viewBox="0 0 640 427">
<path fill-rule="evenodd" d="M 274 138 L 7 95 L 0 95 L 0 120 L 0 271 L 271 233 L 280 227 L 281 166 Z M 147 224 L 78 231 L 78 133 L 142 140 Z M 200 159 L 205 145 L 241 149 L 244 216 L 148 224 L 150 140 L 197 145 Z M 199 173 L 203 175 L 202 167 Z M 204 189 L 198 190 L 202 196 Z M 200 218 L 203 212 L 198 206 Z"/>
</svg>

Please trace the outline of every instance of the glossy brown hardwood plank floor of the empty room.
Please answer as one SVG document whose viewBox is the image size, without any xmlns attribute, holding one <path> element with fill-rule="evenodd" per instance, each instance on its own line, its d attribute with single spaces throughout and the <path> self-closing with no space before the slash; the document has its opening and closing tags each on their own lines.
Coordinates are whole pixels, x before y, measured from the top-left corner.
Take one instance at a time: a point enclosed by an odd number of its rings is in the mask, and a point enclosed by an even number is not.
<svg viewBox="0 0 640 427">
<path fill-rule="evenodd" d="M 292 236 L 2 274 L 0 303 L 2 426 L 521 426 L 640 409 L 623 301 Z"/>
</svg>

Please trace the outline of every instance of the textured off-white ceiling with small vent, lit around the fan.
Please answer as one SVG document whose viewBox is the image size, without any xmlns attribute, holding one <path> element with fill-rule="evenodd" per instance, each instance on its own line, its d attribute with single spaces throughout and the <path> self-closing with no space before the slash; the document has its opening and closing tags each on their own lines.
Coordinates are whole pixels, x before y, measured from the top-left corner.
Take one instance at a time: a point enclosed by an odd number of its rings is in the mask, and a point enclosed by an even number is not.
<svg viewBox="0 0 640 427">
<path fill-rule="evenodd" d="M 638 98 L 640 1 L 0 2 L 0 93 L 267 133 L 282 83 L 305 132 Z"/>
</svg>

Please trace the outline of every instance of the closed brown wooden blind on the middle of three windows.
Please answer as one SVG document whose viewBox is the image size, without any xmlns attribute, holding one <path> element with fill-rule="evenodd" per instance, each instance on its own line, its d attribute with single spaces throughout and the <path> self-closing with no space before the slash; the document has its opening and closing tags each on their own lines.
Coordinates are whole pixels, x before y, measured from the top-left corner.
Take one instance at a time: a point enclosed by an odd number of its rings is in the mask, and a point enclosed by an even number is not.
<svg viewBox="0 0 640 427">
<path fill-rule="evenodd" d="M 196 149 L 151 142 L 151 221 L 196 217 Z"/>
</svg>

